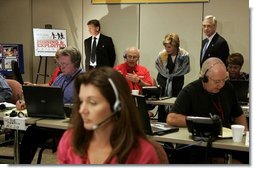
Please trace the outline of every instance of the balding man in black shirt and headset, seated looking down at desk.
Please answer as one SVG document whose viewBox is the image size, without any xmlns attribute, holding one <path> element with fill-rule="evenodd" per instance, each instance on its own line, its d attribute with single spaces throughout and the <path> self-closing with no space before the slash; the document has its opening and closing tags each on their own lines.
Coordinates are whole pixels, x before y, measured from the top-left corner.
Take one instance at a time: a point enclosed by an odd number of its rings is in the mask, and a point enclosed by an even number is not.
<svg viewBox="0 0 254 169">
<path fill-rule="evenodd" d="M 221 117 L 224 127 L 230 128 L 231 124 L 236 123 L 244 125 L 248 130 L 246 117 L 237 101 L 233 86 L 227 81 L 228 78 L 226 67 L 219 58 L 207 59 L 202 65 L 200 79 L 190 83 L 179 93 L 167 116 L 167 123 L 186 127 L 186 116 L 210 117 L 210 114 L 216 114 Z M 190 146 L 182 150 L 184 155 L 181 160 L 186 157 L 185 163 L 205 162 L 205 148 Z M 224 151 L 213 150 L 213 155 L 224 155 Z M 239 152 L 232 155 L 233 158 L 243 161 L 237 157 L 244 157 L 239 155 Z"/>
</svg>

